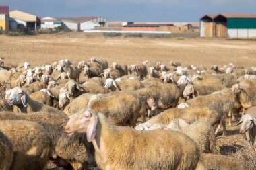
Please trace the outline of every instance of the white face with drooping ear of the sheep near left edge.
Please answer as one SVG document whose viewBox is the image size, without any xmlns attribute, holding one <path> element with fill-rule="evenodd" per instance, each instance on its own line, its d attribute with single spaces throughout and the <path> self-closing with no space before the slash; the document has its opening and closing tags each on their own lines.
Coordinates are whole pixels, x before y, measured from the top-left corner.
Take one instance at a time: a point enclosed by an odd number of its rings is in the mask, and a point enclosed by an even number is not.
<svg viewBox="0 0 256 170">
<path fill-rule="evenodd" d="M 23 104 L 24 107 L 26 107 L 27 106 L 26 93 L 24 93 L 24 91 L 20 87 L 14 87 L 9 92 L 9 97 L 8 97 L 7 102 L 8 102 L 9 105 L 21 105 L 21 104 Z"/>
</svg>

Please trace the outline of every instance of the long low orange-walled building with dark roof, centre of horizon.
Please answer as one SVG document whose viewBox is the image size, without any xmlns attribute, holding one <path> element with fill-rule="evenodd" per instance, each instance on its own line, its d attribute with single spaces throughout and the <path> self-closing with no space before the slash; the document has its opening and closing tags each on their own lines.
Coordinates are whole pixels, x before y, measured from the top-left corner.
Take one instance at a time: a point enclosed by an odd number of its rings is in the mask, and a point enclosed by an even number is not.
<svg viewBox="0 0 256 170">
<path fill-rule="evenodd" d="M 173 24 L 127 24 L 123 31 L 159 31 L 161 27 L 171 27 Z"/>
</svg>

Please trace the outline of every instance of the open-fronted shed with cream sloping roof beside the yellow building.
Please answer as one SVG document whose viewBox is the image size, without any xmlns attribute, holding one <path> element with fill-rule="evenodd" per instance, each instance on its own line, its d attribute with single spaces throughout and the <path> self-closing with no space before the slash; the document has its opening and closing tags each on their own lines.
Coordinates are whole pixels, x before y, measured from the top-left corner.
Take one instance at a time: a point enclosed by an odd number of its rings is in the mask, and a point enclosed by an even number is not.
<svg viewBox="0 0 256 170">
<path fill-rule="evenodd" d="M 11 30 L 38 30 L 40 28 L 40 18 L 36 15 L 15 10 L 9 12 L 9 17 Z"/>
</svg>

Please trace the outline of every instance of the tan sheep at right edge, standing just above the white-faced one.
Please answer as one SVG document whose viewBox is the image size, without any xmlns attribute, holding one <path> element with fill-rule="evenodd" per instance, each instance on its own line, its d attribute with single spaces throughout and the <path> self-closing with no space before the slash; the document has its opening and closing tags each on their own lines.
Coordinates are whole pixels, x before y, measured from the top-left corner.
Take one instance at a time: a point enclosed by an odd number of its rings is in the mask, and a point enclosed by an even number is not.
<svg viewBox="0 0 256 170">
<path fill-rule="evenodd" d="M 230 90 L 230 94 L 236 96 L 233 99 L 238 100 L 241 104 L 242 116 L 245 114 L 245 110 L 251 106 L 256 105 L 256 87 L 244 88 L 241 85 L 234 84 Z"/>
</svg>

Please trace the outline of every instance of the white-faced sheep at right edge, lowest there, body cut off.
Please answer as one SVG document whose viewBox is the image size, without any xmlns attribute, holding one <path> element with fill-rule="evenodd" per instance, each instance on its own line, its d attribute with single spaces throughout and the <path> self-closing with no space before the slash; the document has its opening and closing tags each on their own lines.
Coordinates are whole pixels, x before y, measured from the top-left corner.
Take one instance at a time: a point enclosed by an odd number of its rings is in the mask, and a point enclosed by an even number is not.
<svg viewBox="0 0 256 170">
<path fill-rule="evenodd" d="M 245 114 L 237 125 L 239 124 L 241 124 L 239 134 L 245 134 L 251 148 L 253 148 L 256 136 L 256 114 Z"/>
</svg>

